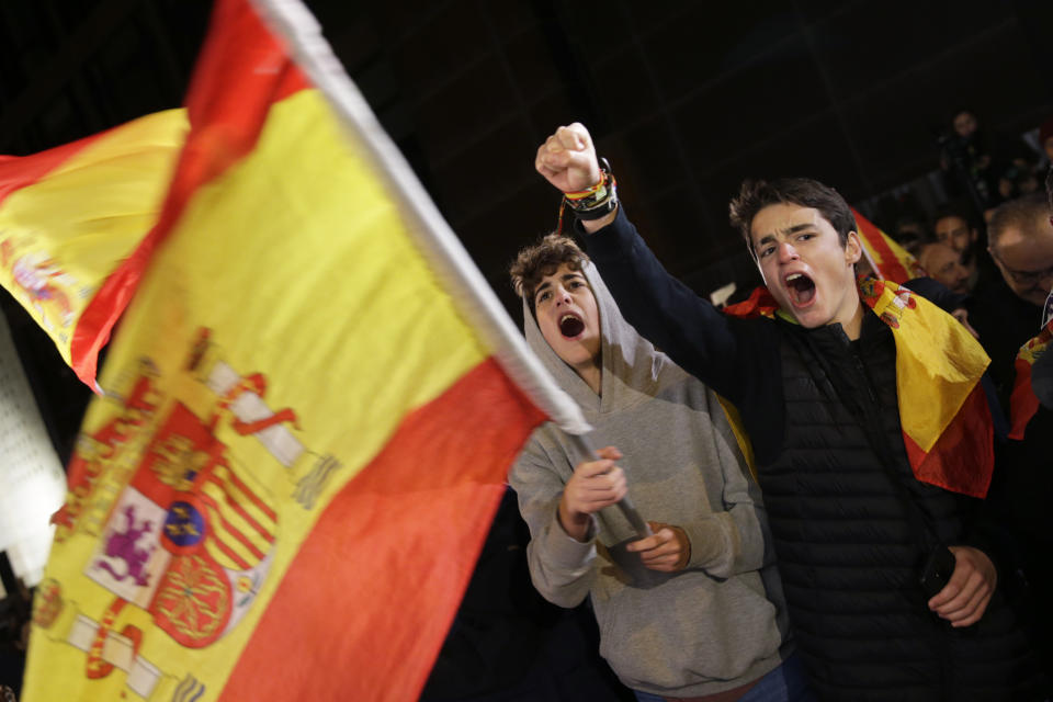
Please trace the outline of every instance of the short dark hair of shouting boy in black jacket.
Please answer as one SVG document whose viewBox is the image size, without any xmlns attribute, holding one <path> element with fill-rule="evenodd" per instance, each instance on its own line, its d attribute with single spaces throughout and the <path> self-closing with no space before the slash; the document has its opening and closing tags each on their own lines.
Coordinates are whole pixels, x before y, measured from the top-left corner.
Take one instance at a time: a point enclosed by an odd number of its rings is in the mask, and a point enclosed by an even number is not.
<svg viewBox="0 0 1053 702">
<path fill-rule="evenodd" d="M 741 233 L 750 254 L 755 258 L 754 241 L 749 236 L 754 217 L 768 205 L 779 204 L 818 210 L 823 218 L 837 231 L 841 246 L 848 244 L 848 233 L 856 231 L 852 208 L 848 206 L 840 193 L 829 185 L 824 185 L 811 178 L 780 178 L 770 182 L 747 179 L 743 181 L 738 196 L 733 197 L 728 204 L 728 214 L 732 226 Z"/>
</svg>

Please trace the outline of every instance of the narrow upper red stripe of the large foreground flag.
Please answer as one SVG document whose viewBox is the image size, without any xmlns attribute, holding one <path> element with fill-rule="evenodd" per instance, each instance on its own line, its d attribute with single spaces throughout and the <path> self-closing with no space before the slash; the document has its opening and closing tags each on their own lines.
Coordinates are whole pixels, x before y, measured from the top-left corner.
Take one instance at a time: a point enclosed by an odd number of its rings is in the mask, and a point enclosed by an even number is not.
<svg viewBox="0 0 1053 702">
<path fill-rule="evenodd" d="M 186 97 L 191 131 L 158 222 L 106 279 L 73 329 L 70 365 L 90 387 L 95 387 L 99 351 L 194 191 L 252 150 L 274 102 L 306 87 L 307 79 L 246 0 L 216 3 Z"/>
</svg>

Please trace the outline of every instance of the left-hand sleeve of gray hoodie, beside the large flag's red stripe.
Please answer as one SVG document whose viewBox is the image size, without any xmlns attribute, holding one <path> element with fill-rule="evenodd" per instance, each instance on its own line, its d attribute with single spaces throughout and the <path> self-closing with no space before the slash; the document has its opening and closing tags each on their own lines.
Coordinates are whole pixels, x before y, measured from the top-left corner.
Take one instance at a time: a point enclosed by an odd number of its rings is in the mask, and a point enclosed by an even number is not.
<svg viewBox="0 0 1053 702">
<path fill-rule="evenodd" d="M 526 559 L 534 587 L 553 604 L 577 607 L 596 578 L 595 521 L 585 543 L 570 537 L 559 524 L 564 479 L 536 439 L 531 439 L 516 460 L 509 483 L 530 528 Z"/>
</svg>

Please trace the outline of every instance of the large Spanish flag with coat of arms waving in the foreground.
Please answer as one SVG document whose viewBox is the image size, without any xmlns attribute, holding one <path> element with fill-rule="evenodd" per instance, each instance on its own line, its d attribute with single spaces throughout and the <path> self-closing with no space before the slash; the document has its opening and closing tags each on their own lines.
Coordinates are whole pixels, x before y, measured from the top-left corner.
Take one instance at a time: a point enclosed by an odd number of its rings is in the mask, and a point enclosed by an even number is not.
<svg viewBox="0 0 1053 702">
<path fill-rule="evenodd" d="M 259 7 L 214 12 L 29 702 L 414 700 L 521 444 L 585 429 L 313 19 Z"/>
</svg>

